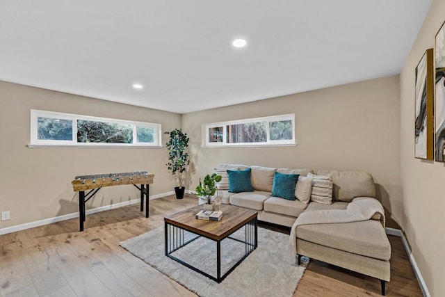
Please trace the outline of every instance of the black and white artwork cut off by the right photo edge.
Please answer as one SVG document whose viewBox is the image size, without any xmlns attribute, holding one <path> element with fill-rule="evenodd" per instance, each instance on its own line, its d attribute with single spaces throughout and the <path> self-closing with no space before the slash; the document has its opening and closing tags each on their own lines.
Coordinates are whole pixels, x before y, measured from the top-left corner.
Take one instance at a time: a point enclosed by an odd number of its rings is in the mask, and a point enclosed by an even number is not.
<svg viewBox="0 0 445 297">
<path fill-rule="evenodd" d="M 445 24 L 445 23 L 444 23 Z M 445 162 L 445 28 L 436 35 L 436 161 Z"/>
</svg>

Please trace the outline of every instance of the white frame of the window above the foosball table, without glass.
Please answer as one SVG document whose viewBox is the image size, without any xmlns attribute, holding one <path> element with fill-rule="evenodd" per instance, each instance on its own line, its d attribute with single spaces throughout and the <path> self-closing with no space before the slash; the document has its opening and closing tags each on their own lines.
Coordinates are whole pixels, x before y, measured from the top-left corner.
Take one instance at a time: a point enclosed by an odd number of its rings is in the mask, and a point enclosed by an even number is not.
<svg viewBox="0 0 445 297">
<path fill-rule="evenodd" d="M 72 120 L 72 140 L 55 141 L 38 139 L 38 118 L 56 118 L 60 120 Z M 111 122 L 131 125 L 133 129 L 133 143 L 78 143 L 77 142 L 77 120 L 89 120 L 95 122 Z M 154 128 L 153 143 L 138 143 L 137 127 Z M 161 124 L 149 122 L 136 122 L 130 120 L 119 120 L 112 118 L 100 118 L 90 115 L 76 115 L 73 113 L 58 113 L 55 111 L 40 111 L 31 109 L 31 133 L 28 147 L 162 147 Z"/>
</svg>

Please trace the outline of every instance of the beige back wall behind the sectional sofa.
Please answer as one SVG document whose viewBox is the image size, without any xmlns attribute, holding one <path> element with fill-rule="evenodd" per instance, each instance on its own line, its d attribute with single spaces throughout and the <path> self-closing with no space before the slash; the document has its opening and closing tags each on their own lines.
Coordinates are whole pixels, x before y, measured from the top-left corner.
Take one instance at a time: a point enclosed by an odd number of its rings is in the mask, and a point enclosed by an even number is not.
<svg viewBox="0 0 445 297">
<path fill-rule="evenodd" d="M 286 168 L 363 170 L 378 183 L 378 198 L 401 221 L 398 76 L 325 88 L 259 102 L 187 113 L 195 175 L 219 163 Z M 202 125 L 295 113 L 296 147 L 201 147 Z"/>
</svg>

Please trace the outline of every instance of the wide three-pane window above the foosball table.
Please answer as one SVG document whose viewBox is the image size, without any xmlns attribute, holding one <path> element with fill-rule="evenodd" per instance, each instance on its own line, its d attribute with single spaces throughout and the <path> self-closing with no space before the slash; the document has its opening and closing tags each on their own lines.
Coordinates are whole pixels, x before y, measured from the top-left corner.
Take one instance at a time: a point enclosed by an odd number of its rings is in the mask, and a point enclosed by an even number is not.
<svg viewBox="0 0 445 297">
<path fill-rule="evenodd" d="M 161 125 L 31 110 L 30 146 L 161 146 Z"/>
</svg>

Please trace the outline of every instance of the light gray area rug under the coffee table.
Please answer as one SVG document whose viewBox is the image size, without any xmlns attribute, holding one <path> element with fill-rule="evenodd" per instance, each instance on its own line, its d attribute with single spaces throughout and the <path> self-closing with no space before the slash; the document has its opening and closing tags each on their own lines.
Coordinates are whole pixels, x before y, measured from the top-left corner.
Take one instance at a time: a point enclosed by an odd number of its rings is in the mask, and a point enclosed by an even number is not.
<svg viewBox="0 0 445 297">
<path fill-rule="evenodd" d="M 184 236 L 191 238 L 195 235 L 186 232 Z M 233 237 L 243 239 L 243 228 Z M 164 255 L 164 227 L 122 241 L 120 246 L 199 296 L 293 296 L 305 267 L 295 264 L 295 257 L 288 250 L 288 241 L 289 235 L 258 228 L 258 248 L 220 284 Z M 221 275 L 241 259 L 244 252 L 243 243 L 223 240 Z M 216 275 L 214 241 L 201 237 L 172 255 Z"/>
</svg>

